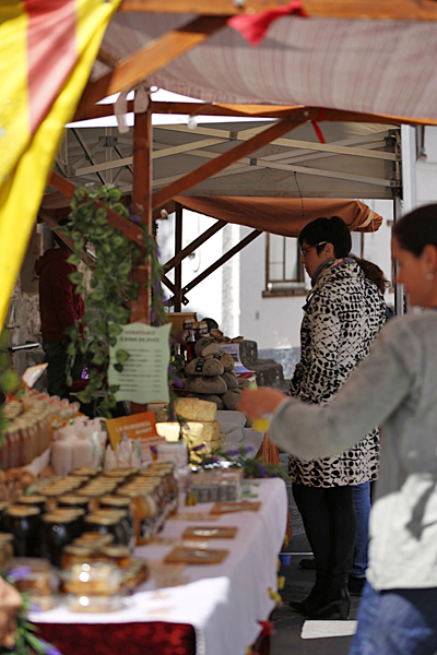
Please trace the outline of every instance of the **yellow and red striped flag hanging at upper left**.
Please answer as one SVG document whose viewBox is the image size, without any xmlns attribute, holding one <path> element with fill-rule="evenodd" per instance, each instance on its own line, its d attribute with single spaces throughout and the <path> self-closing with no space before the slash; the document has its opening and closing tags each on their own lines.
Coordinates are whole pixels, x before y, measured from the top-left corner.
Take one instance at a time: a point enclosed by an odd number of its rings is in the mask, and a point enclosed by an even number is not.
<svg viewBox="0 0 437 655">
<path fill-rule="evenodd" d="M 0 2 L 0 327 L 63 126 L 119 3 Z"/>
</svg>

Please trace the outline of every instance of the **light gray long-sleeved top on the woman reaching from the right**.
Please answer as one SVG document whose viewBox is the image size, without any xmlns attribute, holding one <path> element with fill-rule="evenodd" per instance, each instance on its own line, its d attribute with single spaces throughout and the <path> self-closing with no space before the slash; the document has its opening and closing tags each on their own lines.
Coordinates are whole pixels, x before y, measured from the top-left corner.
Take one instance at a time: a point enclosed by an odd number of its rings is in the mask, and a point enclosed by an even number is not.
<svg viewBox="0 0 437 655">
<path fill-rule="evenodd" d="M 377 590 L 437 587 L 437 311 L 395 319 L 327 406 L 283 403 L 270 437 L 311 460 L 381 426 L 367 577 Z"/>
</svg>

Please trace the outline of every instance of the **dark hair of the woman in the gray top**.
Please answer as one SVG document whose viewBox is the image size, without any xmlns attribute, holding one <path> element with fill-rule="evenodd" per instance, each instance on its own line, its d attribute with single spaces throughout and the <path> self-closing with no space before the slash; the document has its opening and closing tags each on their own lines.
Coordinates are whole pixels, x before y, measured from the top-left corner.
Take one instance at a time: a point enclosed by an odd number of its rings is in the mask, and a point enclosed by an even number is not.
<svg viewBox="0 0 437 655">
<path fill-rule="evenodd" d="M 400 247 L 421 257 L 425 246 L 437 248 L 437 204 L 418 207 L 394 223 L 393 237 Z"/>
</svg>

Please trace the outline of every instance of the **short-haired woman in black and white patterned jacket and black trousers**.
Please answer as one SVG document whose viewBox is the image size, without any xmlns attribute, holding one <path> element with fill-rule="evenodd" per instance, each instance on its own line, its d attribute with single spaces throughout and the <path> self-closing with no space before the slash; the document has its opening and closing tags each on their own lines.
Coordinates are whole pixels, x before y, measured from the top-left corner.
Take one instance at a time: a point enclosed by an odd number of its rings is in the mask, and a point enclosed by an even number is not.
<svg viewBox="0 0 437 655">
<path fill-rule="evenodd" d="M 385 323 L 386 305 L 376 285 L 347 257 L 351 235 L 341 218 L 309 223 L 299 235 L 299 245 L 312 288 L 304 307 L 300 362 L 291 395 L 323 405 L 369 354 Z M 375 429 L 363 434 L 355 448 L 333 457 L 290 458 L 293 496 L 316 560 L 315 587 L 303 603 L 292 602 L 294 609 L 318 617 L 330 590 L 347 595 L 356 534 L 353 489 L 367 495 L 369 504 L 369 481 L 378 477 L 378 454 Z M 367 519 L 359 524 L 365 549 Z"/>
</svg>

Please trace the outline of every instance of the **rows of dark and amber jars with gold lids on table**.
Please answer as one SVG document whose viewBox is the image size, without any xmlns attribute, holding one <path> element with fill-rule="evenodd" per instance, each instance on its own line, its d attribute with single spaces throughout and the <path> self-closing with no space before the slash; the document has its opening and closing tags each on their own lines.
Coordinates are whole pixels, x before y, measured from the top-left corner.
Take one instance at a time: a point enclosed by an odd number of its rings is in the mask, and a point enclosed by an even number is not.
<svg viewBox="0 0 437 655">
<path fill-rule="evenodd" d="M 0 503 L 0 531 L 12 535 L 15 557 L 47 558 L 57 568 L 67 546 L 84 547 L 84 533 L 104 537 L 106 546 L 116 548 L 105 557 L 117 559 L 162 529 L 177 499 L 172 463 L 107 474 L 83 467 L 66 478 L 38 478 L 34 495 L 12 505 Z M 94 548 L 99 555 L 101 546 Z"/>
</svg>

